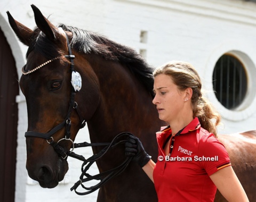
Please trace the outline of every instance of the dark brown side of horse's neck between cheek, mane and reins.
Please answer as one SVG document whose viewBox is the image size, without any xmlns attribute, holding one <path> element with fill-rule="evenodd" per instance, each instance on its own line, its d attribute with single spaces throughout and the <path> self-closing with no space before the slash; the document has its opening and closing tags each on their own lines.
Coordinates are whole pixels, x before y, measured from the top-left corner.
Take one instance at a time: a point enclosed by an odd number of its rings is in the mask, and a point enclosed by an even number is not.
<svg viewBox="0 0 256 202">
<path fill-rule="evenodd" d="M 155 133 L 161 124 L 145 87 L 125 66 L 99 58 L 96 61 L 91 65 L 99 80 L 100 102 L 87 121 L 91 141 L 109 141 L 123 131 L 138 137 L 145 132 Z"/>
</svg>

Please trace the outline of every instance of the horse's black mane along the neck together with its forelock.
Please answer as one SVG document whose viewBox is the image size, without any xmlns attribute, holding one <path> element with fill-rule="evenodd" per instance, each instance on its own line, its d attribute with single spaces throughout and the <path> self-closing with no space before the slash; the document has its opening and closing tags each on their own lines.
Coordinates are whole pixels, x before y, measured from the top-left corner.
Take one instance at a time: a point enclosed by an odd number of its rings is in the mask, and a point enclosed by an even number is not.
<svg viewBox="0 0 256 202">
<path fill-rule="evenodd" d="M 153 96 L 153 68 L 134 49 L 109 40 L 98 33 L 64 24 L 60 24 L 59 27 L 64 31 L 73 33 L 70 46 L 76 51 L 85 54 L 97 54 L 106 60 L 116 61 L 127 66 Z M 47 39 L 42 32 L 39 32 L 38 28 L 34 30 L 34 33 L 37 37 L 34 37 L 33 45 L 29 46 L 27 56 L 31 51 L 35 51 L 45 56 L 47 60 L 51 60 L 59 54 L 61 50 L 58 50 L 55 44 Z"/>
</svg>

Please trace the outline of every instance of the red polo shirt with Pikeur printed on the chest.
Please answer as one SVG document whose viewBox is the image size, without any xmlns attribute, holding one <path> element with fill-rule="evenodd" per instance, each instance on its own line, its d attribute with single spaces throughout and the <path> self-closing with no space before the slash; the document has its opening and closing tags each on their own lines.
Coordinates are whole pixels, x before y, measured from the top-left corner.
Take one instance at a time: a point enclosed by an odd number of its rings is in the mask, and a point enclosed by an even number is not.
<svg viewBox="0 0 256 202">
<path fill-rule="evenodd" d="M 201 128 L 197 117 L 174 135 L 167 156 L 163 147 L 171 128 L 156 134 L 158 160 L 153 178 L 158 202 L 213 201 L 217 188 L 209 176 L 231 165 L 221 142 Z"/>
</svg>

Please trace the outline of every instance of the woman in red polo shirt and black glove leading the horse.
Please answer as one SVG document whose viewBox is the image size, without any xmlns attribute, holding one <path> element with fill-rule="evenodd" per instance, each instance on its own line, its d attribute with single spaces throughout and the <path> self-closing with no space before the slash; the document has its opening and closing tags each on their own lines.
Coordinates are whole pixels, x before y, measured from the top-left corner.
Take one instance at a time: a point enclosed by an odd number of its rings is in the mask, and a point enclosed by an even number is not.
<svg viewBox="0 0 256 202">
<path fill-rule="evenodd" d="M 153 103 L 159 119 L 169 124 L 156 133 L 158 161 L 134 136 L 125 152 L 154 182 L 158 201 L 213 201 L 217 188 L 228 201 L 249 201 L 217 139 L 220 115 L 202 96 L 193 66 L 173 61 L 156 69 L 154 77 Z"/>
</svg>

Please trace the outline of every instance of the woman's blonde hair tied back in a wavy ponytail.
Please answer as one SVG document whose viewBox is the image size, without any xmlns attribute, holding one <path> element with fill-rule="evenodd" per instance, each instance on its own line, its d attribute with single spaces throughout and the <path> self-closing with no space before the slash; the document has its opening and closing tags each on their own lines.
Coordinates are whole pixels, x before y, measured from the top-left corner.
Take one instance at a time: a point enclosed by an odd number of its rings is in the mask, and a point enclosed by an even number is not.
<svg viewBox="0 0 256 202">
<path fill-rule="evenodd" d="M 191 103 L 194 118 L 198 117 L 202 128 L 217 137 L 217 125 L 220 123 L 221 117 L 214 110 L 211 103 L 203 96 L 201 79 L 193 65 L 182 61 L 171 61 L 157 68 L 153 74 L 154 77 L 159 74 L 170 75 L 180 90 L 191 88 L 193 90 Z M 215 119 L 215 122 L 213 122 L 213 119 Z"/>
</svg>

